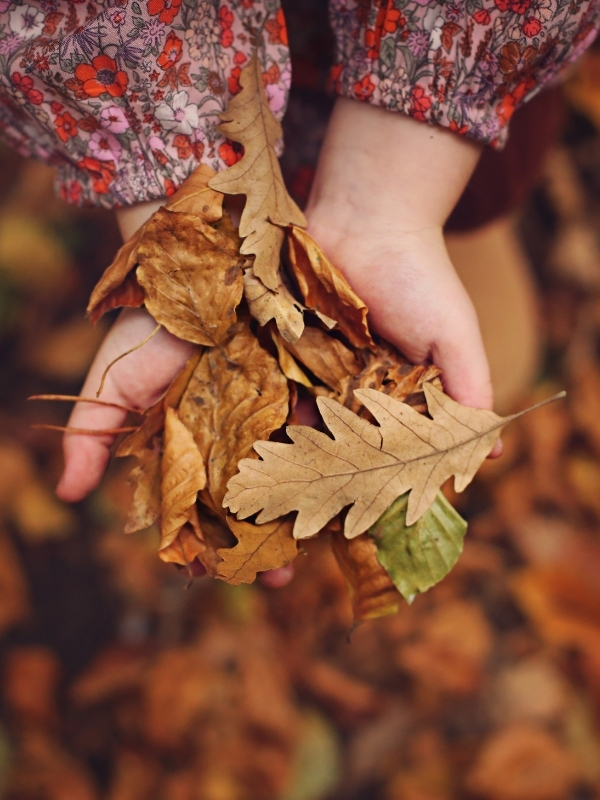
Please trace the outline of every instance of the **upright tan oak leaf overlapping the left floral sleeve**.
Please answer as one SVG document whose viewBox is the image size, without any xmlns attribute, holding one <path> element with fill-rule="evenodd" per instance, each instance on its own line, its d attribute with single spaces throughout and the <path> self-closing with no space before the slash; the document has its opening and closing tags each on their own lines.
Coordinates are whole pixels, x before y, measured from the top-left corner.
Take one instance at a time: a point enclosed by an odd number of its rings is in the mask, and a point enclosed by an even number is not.
<svg viewBox="0 0 600 800">
<path fill-rule="evenodd" d="M 244 237 L 240 252 L 256 256 L 254 274 L 268 289 L 280 284 L 279 257 L 283 228 L 306 226 L 304 214 L 289 196 L 275 145 L 282 136 L 265 94 L 262 72 L 255 53 L 240 74 L 242 90 L 221 115 L 219 131 L 244 146 L 244 156 L 232 167 L 219 172 L 209 186 L 225 194 L 245 194 L 246 205 L 240 221 Z"/>
</svg>

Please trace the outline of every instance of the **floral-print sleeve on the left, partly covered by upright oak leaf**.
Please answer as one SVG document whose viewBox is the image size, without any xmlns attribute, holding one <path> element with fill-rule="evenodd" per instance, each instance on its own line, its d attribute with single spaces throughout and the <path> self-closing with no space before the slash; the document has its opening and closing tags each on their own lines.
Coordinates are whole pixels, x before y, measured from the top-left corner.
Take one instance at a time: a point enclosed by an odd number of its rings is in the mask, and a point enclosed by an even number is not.
<svg viewBox="0 0 600 800">
<path fill-rule="evenodd" d="M 240 157 L 217 126 L 257 44 L 281 117 L 278 0 L 0 0 L 0 133 L 54 165 L 71 203 L 171 195 L 199 162 Z"/>
</svg>

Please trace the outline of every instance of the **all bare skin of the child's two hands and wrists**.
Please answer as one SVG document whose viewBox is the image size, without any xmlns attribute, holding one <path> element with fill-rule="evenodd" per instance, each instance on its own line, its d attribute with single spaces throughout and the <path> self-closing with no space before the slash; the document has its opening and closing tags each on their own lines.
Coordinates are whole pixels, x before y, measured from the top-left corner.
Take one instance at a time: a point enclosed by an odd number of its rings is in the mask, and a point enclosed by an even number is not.
<svg viewBox="0 0 600 800">
<path fill-rule="evenodd" d="M 480 155 L 480 147 L 442 128 L 352 100 L 339 99 L 323 145 L 307 208 L 309 231 L 370 309 L 373 328 L 414 363 L 435 362 L 455 400 L 492 407 L 492 388 L 477 316 L 450 261 L 443 225 Z M 117 212 L 129 238 L 161 205 Z M 93 397 L 106 365 L 155 328 L 141 309 L 126 309 L 104 340 L 82 396 Z M 116 364 L 102 398 L 147 408 L 186 363 L 191 346 L 161 330 Z M 79 404 L 69 425 L 123 424 L 118 409 Z M 100 482 L 114 437 L 66 434 L 57 487 L 81 500 Z M 498 444 L 492 455 L 499 455 Z M 287 583 L 291 570 L 265 582 Z"/>
</svg>

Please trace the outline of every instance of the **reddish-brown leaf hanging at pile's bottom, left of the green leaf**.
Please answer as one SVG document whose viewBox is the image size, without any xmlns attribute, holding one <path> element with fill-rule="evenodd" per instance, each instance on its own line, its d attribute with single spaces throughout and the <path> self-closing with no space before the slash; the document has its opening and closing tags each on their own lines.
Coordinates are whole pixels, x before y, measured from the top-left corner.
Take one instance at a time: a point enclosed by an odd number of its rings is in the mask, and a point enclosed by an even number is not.
<svg viewBox="0 0 600 800">
<path fill-rule="evenodd" d="M 332 533 L 331 546 L 350 588 L 354 621 L 396 614 L 402 597 L 379 563 L 373 539 L 365 533 L 348 540 L 340 528 Z"/>
</svg>

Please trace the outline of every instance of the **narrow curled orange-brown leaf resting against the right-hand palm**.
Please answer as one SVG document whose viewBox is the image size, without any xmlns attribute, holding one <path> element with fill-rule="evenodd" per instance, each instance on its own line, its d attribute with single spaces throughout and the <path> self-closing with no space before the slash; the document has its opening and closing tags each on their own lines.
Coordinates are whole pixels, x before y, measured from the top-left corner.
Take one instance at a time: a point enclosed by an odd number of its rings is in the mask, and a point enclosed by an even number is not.
<svg viewBox="0 0 600 800">
<path fill-rule="evenodd" d="M 288 229 L 292 269 L 304 302 L 336 320 L 338 329 L 355 347 L 374 347 L 367 324 L 367 307 L 350 288 L 314 239 L 301 228 Z"/>
</svg>

